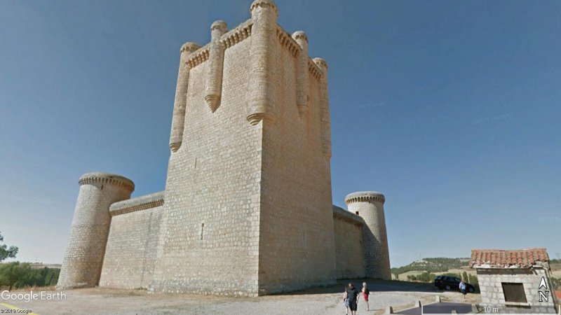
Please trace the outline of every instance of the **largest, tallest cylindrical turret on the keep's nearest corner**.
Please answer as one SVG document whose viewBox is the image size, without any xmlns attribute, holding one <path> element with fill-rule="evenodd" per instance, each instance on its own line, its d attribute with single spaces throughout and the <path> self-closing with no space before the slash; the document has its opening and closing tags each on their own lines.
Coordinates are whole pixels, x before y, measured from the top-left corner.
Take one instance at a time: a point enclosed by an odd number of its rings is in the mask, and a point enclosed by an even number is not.
<svg viewBox="0 0 561 315">
<path fill-rule="evenodd" d="M 273 54 L 276 40 L 278 9 L 272 0 L 255 0 L 250 7 L 251 48 L 248 122 L 257 125 L 261 120 L 274 122 Z"/>
</svg>

